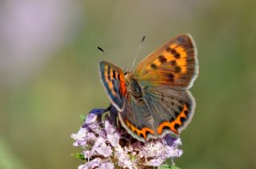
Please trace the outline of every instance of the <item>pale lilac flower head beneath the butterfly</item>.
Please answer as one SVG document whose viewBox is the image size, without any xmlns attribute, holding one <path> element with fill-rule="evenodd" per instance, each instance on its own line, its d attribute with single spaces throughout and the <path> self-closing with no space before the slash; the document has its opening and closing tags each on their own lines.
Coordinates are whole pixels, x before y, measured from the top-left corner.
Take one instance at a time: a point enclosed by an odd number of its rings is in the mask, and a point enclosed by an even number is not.
<svg viewBox="0 0 256 169">
<path fill-rule="evenodd" d="M 75 147 L 82 148 L 81 153 L 73 154 L 84 160 L 78 169 L 153 168 L 162 166 L 166 159 L 171 159 L 174 165 L 173 159 L 182 155 L 178 149 L 182 142 L 177 136 L 166 135 L 142 143 L 117 123 L 113 111 L 104 120 L 101 115 L 90 113 L 71 138 Z"/>
</svg>

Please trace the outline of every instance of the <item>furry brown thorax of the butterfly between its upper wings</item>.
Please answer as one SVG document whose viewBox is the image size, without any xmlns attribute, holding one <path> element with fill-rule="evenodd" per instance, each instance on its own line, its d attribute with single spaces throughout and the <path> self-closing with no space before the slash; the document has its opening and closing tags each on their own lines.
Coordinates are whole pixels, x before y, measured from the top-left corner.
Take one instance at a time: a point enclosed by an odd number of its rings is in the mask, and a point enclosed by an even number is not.
<svg viewBox="0 0 256 169">
<path fill-rule="evenodd" d="M 141 100 L 142 98 L 142 88 L 138 84 L 138 81 L 134 79 L 134 73 L 130 72 L 126 74 L 126 88 L 127 92 L 134 96 L 134 99 Z"/>
</svg>

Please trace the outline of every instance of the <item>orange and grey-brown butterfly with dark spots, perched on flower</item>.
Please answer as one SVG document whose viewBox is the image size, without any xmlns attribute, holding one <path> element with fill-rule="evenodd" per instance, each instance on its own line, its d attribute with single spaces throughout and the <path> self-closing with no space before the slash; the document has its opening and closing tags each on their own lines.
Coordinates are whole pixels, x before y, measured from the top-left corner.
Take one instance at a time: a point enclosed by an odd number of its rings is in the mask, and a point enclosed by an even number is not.
<svg viewBox="0 0 256 169">
<path fill-rule="evenodd" d="M 179 135 L 194 115 L 195 101 L 188 89 L 198 77 L 198 58 L 190 34 L 167 41 L 134 73 L 107 61 L 100 62 L 99 73 L 122 127 L 137 140 Z"/>
</svg>

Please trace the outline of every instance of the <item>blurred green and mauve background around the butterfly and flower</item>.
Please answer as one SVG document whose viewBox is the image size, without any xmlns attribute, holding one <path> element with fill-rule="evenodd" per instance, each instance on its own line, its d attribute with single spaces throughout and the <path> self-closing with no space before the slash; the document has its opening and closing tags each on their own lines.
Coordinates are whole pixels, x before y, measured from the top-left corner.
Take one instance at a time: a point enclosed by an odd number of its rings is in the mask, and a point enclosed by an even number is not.
<svg viewBox="0 0 256 169">
<path fill-rule="evenodd" d="M 182 168 L 256 167 L 256 2 L 0 1 L 0 168 L 77 168 L 79 114 L 106 108 L 98 62 L 130 67 L 191 33 L 197 108 L 182 132 Z M 137 61 L 137 64 L 138 64 Z"/>
</svg>

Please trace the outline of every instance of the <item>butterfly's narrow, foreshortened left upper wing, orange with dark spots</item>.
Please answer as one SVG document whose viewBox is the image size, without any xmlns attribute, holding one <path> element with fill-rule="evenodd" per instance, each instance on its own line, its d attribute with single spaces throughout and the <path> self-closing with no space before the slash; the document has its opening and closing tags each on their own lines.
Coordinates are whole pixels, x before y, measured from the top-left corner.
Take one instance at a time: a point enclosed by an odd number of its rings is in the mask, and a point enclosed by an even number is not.
<svg viewBox="0 0 256 169">
<path fill-rule="evenodd" d="M 126 97 L 126 82 L 122 69 L 107 61 L 101 61 L 99 73 L 111 104 L 122 112 Z"/>
</svg>

